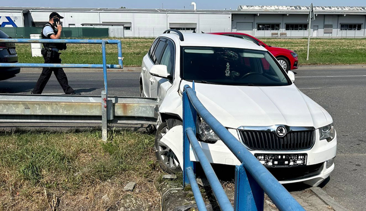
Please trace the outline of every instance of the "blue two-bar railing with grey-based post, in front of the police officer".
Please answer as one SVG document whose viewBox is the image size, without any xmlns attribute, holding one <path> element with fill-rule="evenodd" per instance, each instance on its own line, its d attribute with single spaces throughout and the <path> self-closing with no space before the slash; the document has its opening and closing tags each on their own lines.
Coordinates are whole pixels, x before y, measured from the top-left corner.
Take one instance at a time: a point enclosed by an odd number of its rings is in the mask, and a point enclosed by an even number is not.
<svg viewBox="0 0 366 211">
<path fill-rule="evenodd" d="M 121 40 L 104 39 L 0 39 L 0 43 L 77 43 L 77 44 L 102 44 L 103 64 L 36 64 L 36 63 L 0 63 L 0 67 L 18 67 L 18 68 L 102 68 L 104 90 L 102 91 L 102 140 L 107 139 L 107 109 L 108 109 L 108 86 L 107 86 L 107 68 L 122 69 L 122 42 Z M 106 44 L 117 44 L 118 65 L 109 65 L 106 62 Z"/>
</svg>

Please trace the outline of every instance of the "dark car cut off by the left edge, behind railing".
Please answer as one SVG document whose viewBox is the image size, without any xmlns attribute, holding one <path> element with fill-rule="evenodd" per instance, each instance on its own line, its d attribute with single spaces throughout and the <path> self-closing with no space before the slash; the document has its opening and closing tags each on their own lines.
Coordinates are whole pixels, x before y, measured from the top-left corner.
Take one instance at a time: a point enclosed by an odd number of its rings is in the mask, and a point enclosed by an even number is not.
<svg viewBox="0 0 366 211">
<path fill-rule="evenodd" d="M 0 38 L 11 38 L 0 30 Z M 0 42 L 0 63 L 17 63 L 18 54 L 15 51 L 15 43 L 3 43 Z M 20 68 L 1 68 L 0 67 L 0 80 L 5 80 L 14 77 L 20 73 Z"/>
</svg>

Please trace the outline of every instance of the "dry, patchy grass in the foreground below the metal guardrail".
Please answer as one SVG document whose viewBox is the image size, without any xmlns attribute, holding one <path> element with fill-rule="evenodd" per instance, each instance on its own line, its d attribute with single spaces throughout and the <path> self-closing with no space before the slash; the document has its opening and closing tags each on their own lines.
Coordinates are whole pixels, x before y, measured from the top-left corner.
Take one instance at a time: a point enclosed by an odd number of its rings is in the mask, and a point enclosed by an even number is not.
<svg viewBox="0 0 366 211">
<path fill-rule="evenodd" d="M 129 181 L 151 210 L 160 207 L 154 137 L 112 132 L 107 143 L 100 131 L 0 133 L 0 211 L 47 210 L 44 190 L 58 196 L 59 210 L 106 210 L 125 196 Z M 102 203 L 105 194 L 109 203 Z"/>
</svg>

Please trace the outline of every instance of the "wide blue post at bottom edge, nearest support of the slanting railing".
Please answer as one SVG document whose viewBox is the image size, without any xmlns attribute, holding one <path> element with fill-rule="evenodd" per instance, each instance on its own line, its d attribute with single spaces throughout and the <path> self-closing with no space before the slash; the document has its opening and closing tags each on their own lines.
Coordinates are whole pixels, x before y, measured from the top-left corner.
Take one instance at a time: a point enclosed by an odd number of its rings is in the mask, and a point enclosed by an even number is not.
<svg viewBox="0 0 366 211">
<path fill-rule="evenodd" d="M 245 170 L 243 164 L 235 166 L 235 211 L 263 211 L 264 191 Z"/>
</svg>

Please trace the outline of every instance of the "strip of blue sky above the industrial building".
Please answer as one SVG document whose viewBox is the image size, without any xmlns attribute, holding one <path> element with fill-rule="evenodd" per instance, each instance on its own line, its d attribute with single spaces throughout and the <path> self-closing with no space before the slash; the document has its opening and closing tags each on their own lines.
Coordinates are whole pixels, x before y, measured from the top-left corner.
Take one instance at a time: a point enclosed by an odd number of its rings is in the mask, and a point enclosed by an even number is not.
<svg viewBox="0 0 366 211">
<path fill-rule="evenodd" d="M 365 0 L 0 0 L 1 6 L 14 7 L 88 7 L 88 8 L 152 8 L 152 9 L 193 9 L 190 3 L 195 1 L 197 9 L 236 10 L 239 5 L 301 5 L 307 6 L 366 6 Z"/>
</svg>

